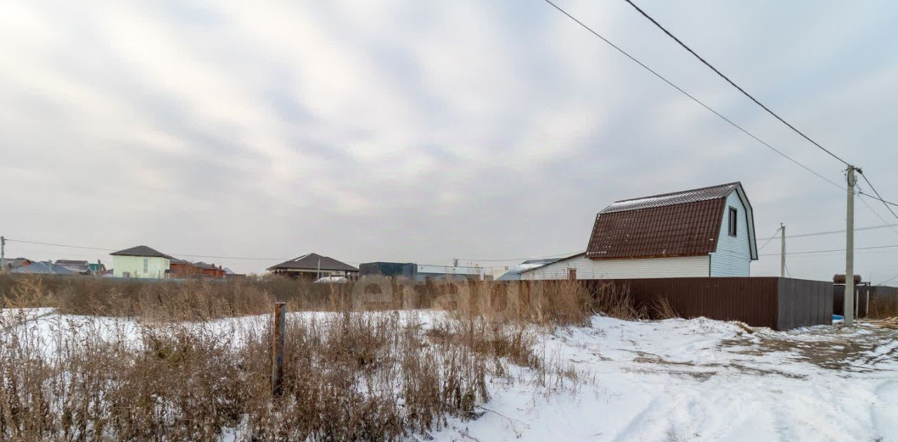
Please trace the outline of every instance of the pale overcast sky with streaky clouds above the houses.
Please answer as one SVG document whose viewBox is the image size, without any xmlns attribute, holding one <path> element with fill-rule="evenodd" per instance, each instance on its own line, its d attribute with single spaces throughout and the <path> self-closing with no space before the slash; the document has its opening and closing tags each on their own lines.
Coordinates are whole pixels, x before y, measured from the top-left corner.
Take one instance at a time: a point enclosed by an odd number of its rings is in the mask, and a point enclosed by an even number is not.
<svg viewBox="0 0 898 442">
<path fill-rule="evenodd" d="M 622 0 L 557 1 L 843 180 L 838 161 Z M 638 4 L 898 200 L 898 4 Z M 242 272 L 309 252 L 419 264 L 576 252 L 614 200 L 730 181 L 753 204 L 759 246 L 779 222 L 794 234 L 845 223 L 843 191 L 541 0 L 4 2 L 0 103 L 0 234 L 143 244 Z M 883 224 L 857 206 L 858 226 Z M 856 243 L 898 244 L 898 231 L 860 231 Z M 761 253 L 778 251 L 773 241 Z M 110 261 L 16 242 L 6 256 Z M 788 268 L 829 280 L 844 254 L 790 256 Z M 858 250 L 855 268 L 885 280 L 898 273 L 898 247 Z M 762 256 L 752 273 L 779 273 L 779 257 Z"/>
</svg>

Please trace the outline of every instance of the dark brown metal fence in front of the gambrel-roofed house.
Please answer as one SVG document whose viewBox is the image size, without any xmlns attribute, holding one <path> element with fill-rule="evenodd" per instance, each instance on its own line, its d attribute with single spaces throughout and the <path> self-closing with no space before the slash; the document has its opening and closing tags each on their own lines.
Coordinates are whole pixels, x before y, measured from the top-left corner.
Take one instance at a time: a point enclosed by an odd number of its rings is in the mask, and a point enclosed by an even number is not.
<svg viewBox="0 0 898 442">
<path fill-rule="evenodd" d="M 664 297 L 682 317 L 742 321 L 778 330 L 832 324 L 832 282 L 776 277 L 585 282 L 596 292 L 608 283 L 629 286 L 630 296 L 638 306 L 649 306 Z"/>
</svg>

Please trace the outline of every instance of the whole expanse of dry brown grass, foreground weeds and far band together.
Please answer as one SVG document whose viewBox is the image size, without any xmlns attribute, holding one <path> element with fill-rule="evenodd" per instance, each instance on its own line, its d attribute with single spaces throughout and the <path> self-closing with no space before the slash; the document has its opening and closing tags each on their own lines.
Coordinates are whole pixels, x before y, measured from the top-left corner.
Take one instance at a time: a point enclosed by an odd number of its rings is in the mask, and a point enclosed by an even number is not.
<svg viewBox="0 0 898 442">
<path fill-rule="evenodd" d="M 20 278 L 7 287 L 3 440 L 216 440 L 223 429 L 238 440 L 427 435 L 450 417 L 478 417 L 490 379 L 577 388 L 574 370 L 538 350 L 539 334 L 592 314 L 575 282 L 413 290 L 389 281 Z M 275 294 L 288 288 L 290 296 Z M 269 320 L 214 320 L 267 313 L 276 298 L 292 310 L 326 311 L 287 316 L 279 398 L 270 392 Z M 445 319 L 424 325 L 395 311 L 430 305 L 447 310 Z M 48 323 L 33 320 L 26 307 L 34 306 L 112 317 Z M 358 311 L 371 309 L 387 311 Z"/>
</svg>

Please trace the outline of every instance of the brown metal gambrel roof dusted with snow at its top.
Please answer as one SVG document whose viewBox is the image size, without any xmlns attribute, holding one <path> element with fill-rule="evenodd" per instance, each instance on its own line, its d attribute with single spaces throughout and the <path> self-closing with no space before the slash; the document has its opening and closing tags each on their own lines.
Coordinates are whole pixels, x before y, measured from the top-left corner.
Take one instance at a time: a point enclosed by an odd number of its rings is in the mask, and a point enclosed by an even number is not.
<svg viewBox="0 0 898 442">
<path fill-rule="evenodd" d="M 592 259 L 707 255 L 717 250 L 726 197 L 739 183 L 623 200 L 595 217 Z"/>
</svg>

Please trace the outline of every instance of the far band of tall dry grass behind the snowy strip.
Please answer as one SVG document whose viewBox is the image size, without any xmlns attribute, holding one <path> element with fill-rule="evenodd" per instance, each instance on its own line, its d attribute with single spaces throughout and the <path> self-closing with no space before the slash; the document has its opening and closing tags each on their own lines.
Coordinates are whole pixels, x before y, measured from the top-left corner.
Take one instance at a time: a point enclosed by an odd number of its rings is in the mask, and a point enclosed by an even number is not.
<svg viewBox="0 0 898 442">
<path fill-rule="evenodd" d="M 286 300 L 290 311 L 436 307 L 459 317 L 484 316 L 541 325 L 583 325 L 593 308 L 588 290 L 571 281 L 415 286 L 383 277 L 348 284 L 315 284 L 277 276 L 227 282 L 144 282 L 0 275 L 0 290 L 0 298 L 28 307 L 56 307 L 65 314 L 179 321 L 259 315 L 271 311 L 275 299 Z M 612 304 L 600 302 L 603 307 Z"/>
</svg>

